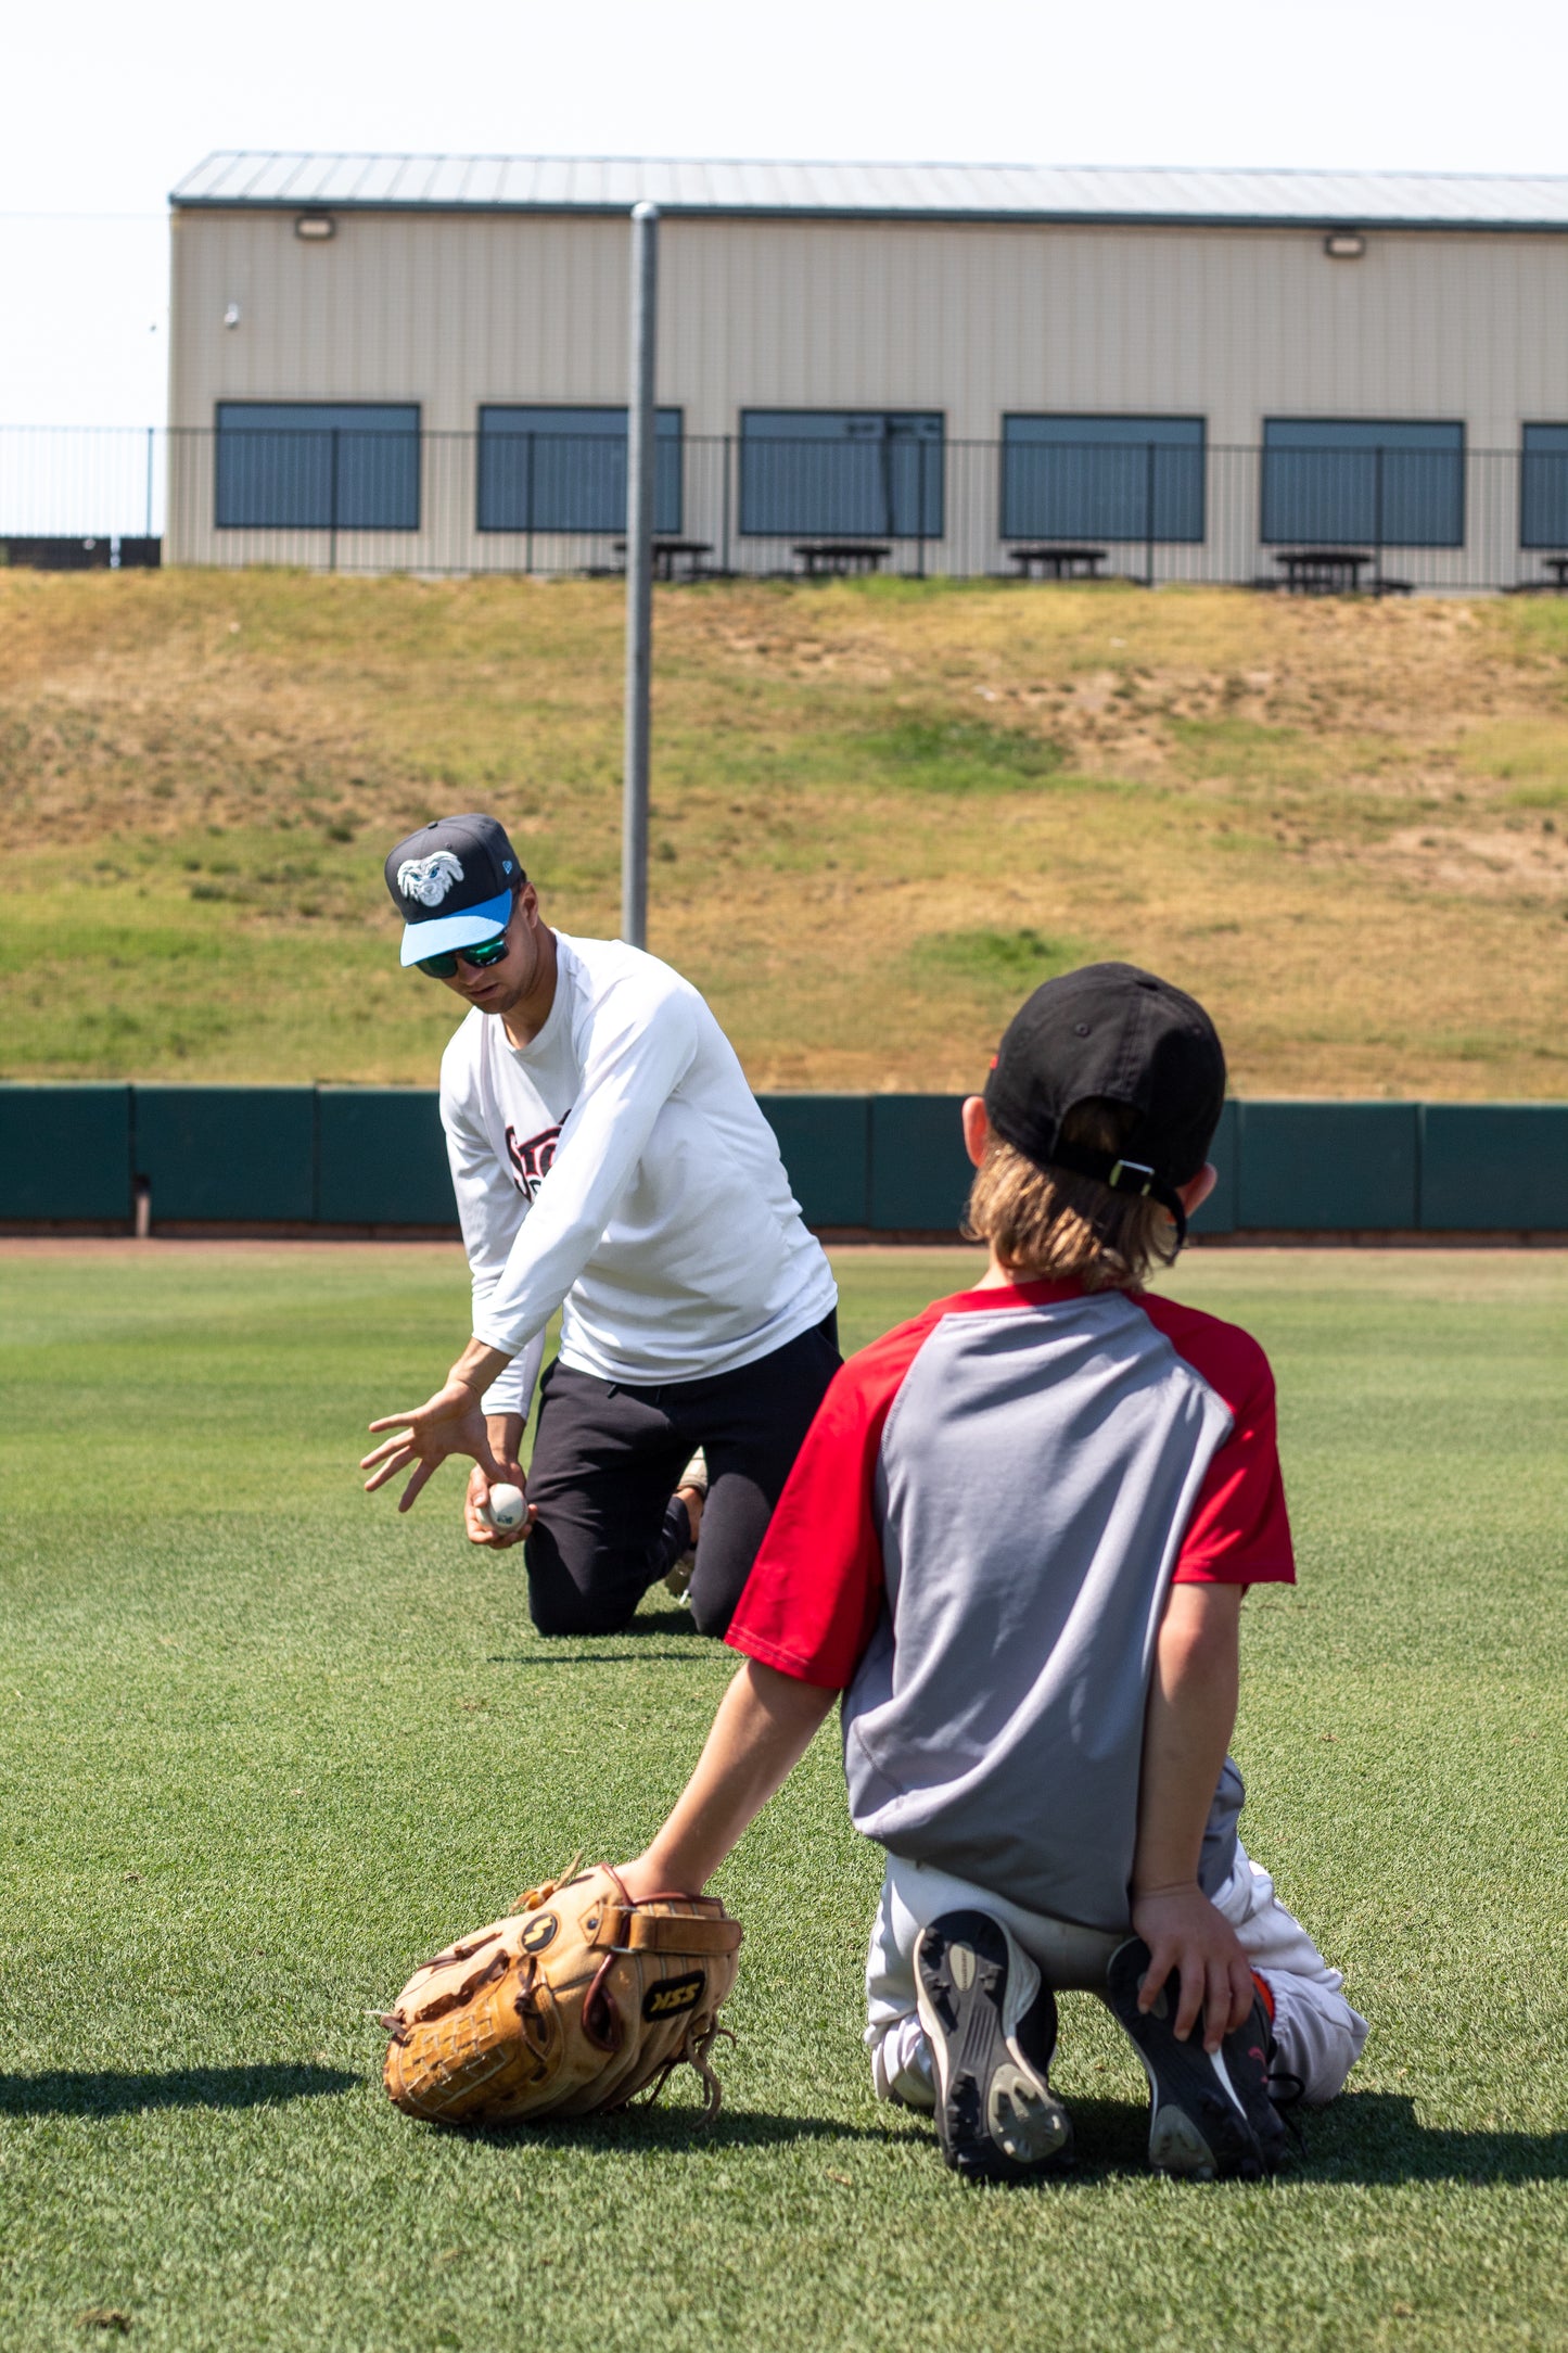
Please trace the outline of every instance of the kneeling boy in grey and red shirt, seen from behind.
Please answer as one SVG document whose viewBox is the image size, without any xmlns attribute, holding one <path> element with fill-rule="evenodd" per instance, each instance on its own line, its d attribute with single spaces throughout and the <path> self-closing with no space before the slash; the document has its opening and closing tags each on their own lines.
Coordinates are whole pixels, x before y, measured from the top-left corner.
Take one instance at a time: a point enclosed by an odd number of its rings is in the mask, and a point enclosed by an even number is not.
<svg viewBox="0 0 1568 2353">
<path fill-rule="evenodd" d="M 1206 1012 L 1131 965 L 1016 1014 L 964 1104 L 990 1268 L 837 1374 L 729 1628 L 748 1664 L 623 1871 L 698 1892 L 842 1692 L 886 1847 L 872 2073 L 961 2174 L 1070 2162 L 1053 1986 L 1131 2035 L 1166 2174 L 1269 2172 L 1281 2094 L 1333 2099 L 1366 2040 L 1237 1838 L 1241 1598 L 1295 1574 L 1269 1365 L 1143 1289 L 1222 1099 Z"/>
</svg>

